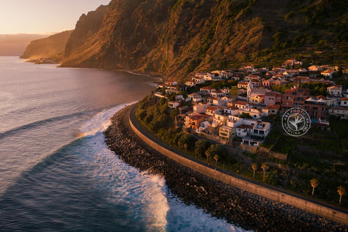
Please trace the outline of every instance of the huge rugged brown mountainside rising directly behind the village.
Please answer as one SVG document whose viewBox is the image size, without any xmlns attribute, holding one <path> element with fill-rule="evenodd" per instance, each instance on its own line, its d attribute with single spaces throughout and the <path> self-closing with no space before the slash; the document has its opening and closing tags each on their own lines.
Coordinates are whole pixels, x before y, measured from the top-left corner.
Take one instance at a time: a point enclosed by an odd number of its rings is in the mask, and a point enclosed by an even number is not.
<svg viewBox="0 0 348 232">
<path fill-rule="evenodd" d="M 65 53 L 62 67 L 183 80 L 197 69 L 279 64 L 289 56 L 329 60 L 336 54 L 343 64 L 347 12 L 329 0 L 112 0 L 98 32 Z"/>
</svg>

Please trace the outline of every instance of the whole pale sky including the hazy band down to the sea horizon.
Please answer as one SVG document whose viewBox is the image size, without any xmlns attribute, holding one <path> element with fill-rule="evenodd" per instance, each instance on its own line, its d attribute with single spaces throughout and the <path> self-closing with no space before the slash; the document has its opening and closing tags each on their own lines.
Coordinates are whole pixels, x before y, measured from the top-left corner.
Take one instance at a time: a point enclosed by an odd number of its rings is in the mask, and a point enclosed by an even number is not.
<svg viewBox="0 0 348 232">
<path fill-rule="evenodd" d="M 0 8 L 0 55 L 23 55 L 32 40 L 75 29 L 82 14 L 110 0 L 7 1 Z"/>
</svg>

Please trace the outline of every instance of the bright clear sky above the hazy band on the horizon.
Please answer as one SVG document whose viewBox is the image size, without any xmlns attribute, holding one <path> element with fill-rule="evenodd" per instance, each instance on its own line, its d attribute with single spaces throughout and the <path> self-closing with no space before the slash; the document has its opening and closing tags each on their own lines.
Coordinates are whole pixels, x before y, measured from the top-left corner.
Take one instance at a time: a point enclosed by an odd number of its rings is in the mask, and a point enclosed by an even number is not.
<svg viewBox="0 0 348 232">
<path fill-rule="evenodd" d="M 52 34 L 75 28 L 82 14 L 110 0 L 0 0 L 0 34 Z"/>
</svg>

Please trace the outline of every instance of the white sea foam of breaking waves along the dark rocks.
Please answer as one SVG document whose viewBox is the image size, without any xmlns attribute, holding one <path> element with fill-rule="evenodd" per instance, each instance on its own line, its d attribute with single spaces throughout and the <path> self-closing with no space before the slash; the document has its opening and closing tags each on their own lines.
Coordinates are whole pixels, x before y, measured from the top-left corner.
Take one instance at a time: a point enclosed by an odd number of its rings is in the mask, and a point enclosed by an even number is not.
<svg viewBox="0 0 348 232">
<path fill-rule="evenodd" d="M 170 194 L 164 178 L 139 173 L 108 149 L 101 132 L 110 125 L 109 118 L 122 107 L 104 110 L 80 128 L 92 148 L 88 156 L 93 167 L 92 178 L 99 183 L 96 187 L 107 193 L 106 200 L 132 206 L 127 213 L 132 220 L 144 222 L 146 231 L 244 231 L 195 206 L 187 206 Z"/>
</svg>

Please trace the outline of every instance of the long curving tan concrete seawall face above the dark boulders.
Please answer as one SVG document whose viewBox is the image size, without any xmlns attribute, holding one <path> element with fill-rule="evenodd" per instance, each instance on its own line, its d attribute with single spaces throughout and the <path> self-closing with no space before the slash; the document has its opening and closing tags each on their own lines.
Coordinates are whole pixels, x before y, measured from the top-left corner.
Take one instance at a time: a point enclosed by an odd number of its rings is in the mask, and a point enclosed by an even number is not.
<svg viewBox="0 0 348 232">
<path fill-rule="evenodd" d="M 130 111 L 132 112 L 132 110 Z M 158 152 L 164 154 L 165 156 L 171 158 L 172 160 L 175 160 L 176 162 L 189 167 L 195 171 L 198 171 L 208 177 L 212 177 L 214 179 L 220 180 L 223 183 L 232 185 L 234 187 L 240 188 L 242 190 L 269 198 L 271 200 L 280 201 L 286 204 L 290 204 L 291 206 L 306 210 L 308 212 L 311 212 L 313 214 L 325 217 L 327 219 L 331 219 L 332 221 L 348 225 L 348 214 L 345 212 L 341 212 L 314 202 L 310 202 L 301 198 L 298 198 L 296 196 L 286 194 L 283 192 L 278 192 L 275 190 L 272 190 L 270 188 L 257 185 L 254 183 L 251 183 L 249 181 L 239 179 L 237 177 L 227 175 L 226 173 L 220 172 L 218 170 L 214 170 L 212 168 L 206 167 L 202 164 L 199 164 L 195 161 L 192 161 L 188 158 L 185 158 L 183 156 L 180 156 L 176 153 L 171 152 L 170 150 L 164 148 L 163 146 L 157 144 L 150 138 L 146 137 L 144 134 L 142 134 L 136 126 L 132 123 L 132 121 L 129 118 L 130 126 L 132 127 L 133 131 L 139 136 L 144 142 L 146 142 L 149 146 L 156 149 Z"/>
</svg>

